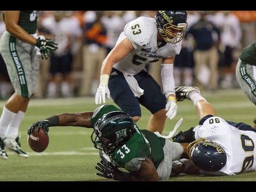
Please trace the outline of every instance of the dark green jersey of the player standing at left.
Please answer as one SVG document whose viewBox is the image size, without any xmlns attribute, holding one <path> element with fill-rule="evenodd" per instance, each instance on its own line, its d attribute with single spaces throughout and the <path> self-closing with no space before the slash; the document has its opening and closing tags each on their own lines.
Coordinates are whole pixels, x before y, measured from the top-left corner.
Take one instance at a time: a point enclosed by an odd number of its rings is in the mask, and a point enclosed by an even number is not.
<svg viewBox="0 0 256 192">
<path fill-rule="evenodd" d="M 18 25 L 29 34 L 36 33 L 38 11 L 20 11 Z"/>
</svg>

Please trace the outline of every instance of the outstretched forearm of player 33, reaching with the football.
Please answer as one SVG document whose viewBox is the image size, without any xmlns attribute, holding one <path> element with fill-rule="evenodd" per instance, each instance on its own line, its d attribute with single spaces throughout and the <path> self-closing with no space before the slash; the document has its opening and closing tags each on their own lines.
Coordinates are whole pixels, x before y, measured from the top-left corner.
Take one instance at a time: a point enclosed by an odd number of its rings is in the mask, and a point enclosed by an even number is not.
<svg viewBox="0 0 256 192">
<path fill-rule="evenodd" d="M 49 126 L 81 126 L 91 128 L 91 118 L 93 112 L 84 112 L 84 113 L 63 113 L 59 115 L 54 115 L 47 118 L 49 121 Z"/>
</svg>

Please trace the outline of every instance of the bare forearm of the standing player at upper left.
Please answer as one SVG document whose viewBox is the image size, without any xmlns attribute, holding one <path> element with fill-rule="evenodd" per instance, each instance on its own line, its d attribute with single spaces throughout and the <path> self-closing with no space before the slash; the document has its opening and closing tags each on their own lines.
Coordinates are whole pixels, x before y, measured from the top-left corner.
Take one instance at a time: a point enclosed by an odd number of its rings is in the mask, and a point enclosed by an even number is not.
<svg viewBox="0 0 256 192">
<path fill-rule="evenodd" d="M 14 24 L 14 25 L 6 25 L 6 30 L 11 33 L 14 37 L 20 39 L 21 41 L 25 43 L 29 43 L 31 45 L 36 44 L 36 38 L 31 36 L 30 34 L 27 33 L 24 29 L 22 29 L 19 25 Z"/>
</svg>

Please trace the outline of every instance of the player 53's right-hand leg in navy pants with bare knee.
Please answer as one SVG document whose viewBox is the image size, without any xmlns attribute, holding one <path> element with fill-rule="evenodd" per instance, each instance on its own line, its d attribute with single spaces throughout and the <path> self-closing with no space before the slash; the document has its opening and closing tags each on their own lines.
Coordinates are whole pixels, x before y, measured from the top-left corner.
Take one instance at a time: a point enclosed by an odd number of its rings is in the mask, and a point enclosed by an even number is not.
<svg viewBox="0 0 256 192">
<path fill-rule="evenodd" d="M 162 133 L 166 120 L 166 98 L 161 91 L 161 87 L 146 71 L 141 71 L 134 77 L 141 89 L 144 90 L 144 94 L 138 100 L 152 114 L 148 121 L 147 130 Z"/>
</svg>

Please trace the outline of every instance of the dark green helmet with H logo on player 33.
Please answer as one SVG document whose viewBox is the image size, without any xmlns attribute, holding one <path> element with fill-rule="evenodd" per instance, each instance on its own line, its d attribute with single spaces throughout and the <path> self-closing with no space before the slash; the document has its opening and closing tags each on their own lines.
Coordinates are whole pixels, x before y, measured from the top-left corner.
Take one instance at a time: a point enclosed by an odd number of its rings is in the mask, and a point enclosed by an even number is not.
<svg viewBox="0 0 256 192">
<path fill-rule="evenodd" d="M 94 147 L 105 151 L 114 150 L 120 143 L 133 134 L 134 122 L 130 115 L 123 111 L 112 111 L 102 116 L 94 125 L 91 140 Z M 96 134 L 94 137 L 93 134 Z"/>
</svg>

